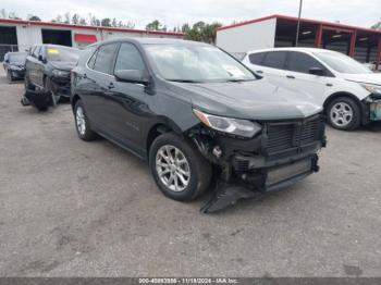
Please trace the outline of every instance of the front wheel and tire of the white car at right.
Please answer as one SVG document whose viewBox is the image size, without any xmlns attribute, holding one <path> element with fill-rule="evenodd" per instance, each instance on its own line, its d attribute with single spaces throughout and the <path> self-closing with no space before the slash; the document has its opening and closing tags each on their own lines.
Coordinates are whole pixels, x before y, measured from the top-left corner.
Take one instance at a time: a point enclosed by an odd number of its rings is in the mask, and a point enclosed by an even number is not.
<svg viewBox="0 0 381 285">
<path fill-rule="evenodd" d="M 361 123 L 361 112 L 355 100 L 348 97 L 334 99 L 327 109 L 329 124 L 337 129 L 353 131 Z"/>
</svg>

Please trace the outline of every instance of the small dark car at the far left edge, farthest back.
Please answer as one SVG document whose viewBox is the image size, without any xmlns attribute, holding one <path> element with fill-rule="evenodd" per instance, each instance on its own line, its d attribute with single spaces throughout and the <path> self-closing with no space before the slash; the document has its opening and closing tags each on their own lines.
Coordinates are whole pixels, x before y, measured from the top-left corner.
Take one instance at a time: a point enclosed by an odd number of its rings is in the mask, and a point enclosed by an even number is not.
<svg viewBox="0 0 381 285">
<path fill-rule="evenodd" d="M 3 67 L 9 83 L 13 80 L 23 80 L 25 75 L 26 52 L 7 52 L 4 55 Z"/>
</svg>

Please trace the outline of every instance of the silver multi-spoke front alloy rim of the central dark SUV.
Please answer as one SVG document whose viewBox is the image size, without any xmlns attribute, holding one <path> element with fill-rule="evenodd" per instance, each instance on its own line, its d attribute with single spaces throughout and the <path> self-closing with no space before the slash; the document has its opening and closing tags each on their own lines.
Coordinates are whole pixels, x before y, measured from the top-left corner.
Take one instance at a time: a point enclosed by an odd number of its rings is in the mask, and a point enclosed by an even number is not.
<svg viewBox="0 0 381 285">
<path fill-rule="evenodd" d="M 183 191 L 190 182 L 190 168 L 184 153 L 171 145 L 162 146 L 156 154 L 156 171 L 160 181 L 172 191 Z"/>
</svg>

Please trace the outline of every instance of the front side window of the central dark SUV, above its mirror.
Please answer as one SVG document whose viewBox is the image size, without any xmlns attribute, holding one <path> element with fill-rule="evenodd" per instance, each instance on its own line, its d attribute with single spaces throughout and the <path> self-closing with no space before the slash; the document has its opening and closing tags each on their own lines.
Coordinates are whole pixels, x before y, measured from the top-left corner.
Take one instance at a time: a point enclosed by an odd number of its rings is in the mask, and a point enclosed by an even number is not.
<svg viewBox="0 0 381 285">
<path fill-rule="evenodd" d="M 128 42 L 123 42 L 118 53 L 115 71 L 145 70 L 145 64 L 137 48 Z"/>
</svg>

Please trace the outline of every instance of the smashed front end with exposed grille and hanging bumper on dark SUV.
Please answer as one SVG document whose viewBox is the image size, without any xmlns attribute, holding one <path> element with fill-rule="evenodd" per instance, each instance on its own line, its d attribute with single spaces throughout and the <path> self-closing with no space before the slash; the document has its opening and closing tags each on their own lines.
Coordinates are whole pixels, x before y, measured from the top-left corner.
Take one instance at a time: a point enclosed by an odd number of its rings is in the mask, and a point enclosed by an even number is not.
<svg viewBox="0 0 381 285">
<path fill-rule="evenodd" d="M 211 199 L 201 211 L 212 212 L 278 190 L 318 172 L 317 152 L 325 147 L 324 120 L 268 122 L 253 139 L 226 137 L 200 131 L 193 140 L 199 151 L 220 170 Z"/>
</svg>

